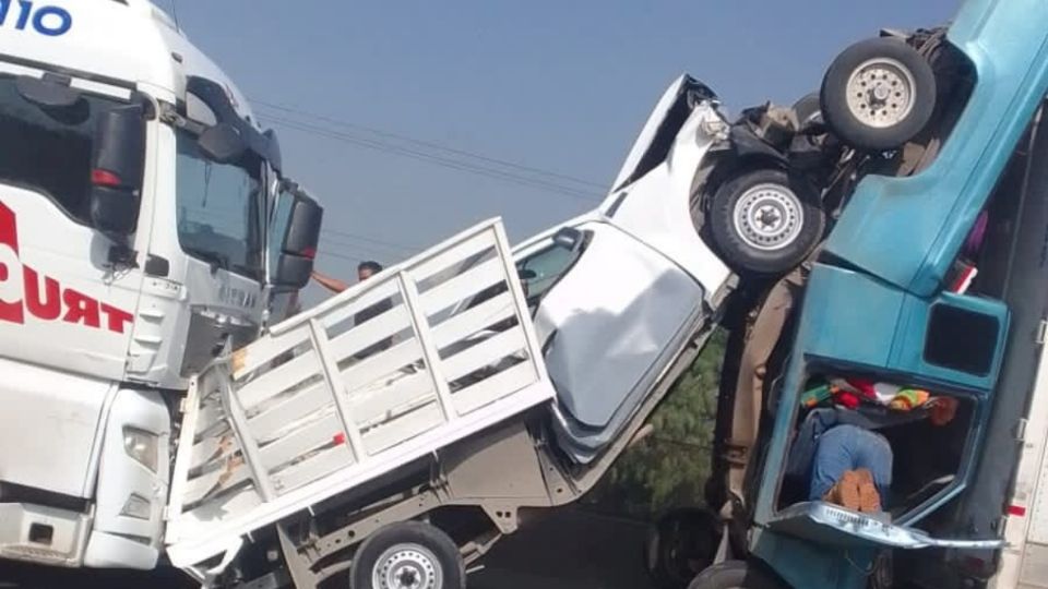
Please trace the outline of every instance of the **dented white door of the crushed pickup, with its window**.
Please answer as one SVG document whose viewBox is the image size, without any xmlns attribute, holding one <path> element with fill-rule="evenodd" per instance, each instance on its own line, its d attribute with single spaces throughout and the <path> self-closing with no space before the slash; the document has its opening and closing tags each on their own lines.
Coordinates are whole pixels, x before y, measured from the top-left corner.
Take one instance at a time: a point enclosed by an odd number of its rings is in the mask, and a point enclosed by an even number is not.
<svg viewBox="0 0 1048 589">
<path fill-rule="evenodd" d="M 588 461 L 692 333 L 703 289 L 660 253 L 599 221 L 562 229 L 517 266 L 558 393 L 558 433 L 568 452 Z"/>
</svg>

